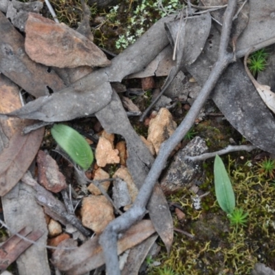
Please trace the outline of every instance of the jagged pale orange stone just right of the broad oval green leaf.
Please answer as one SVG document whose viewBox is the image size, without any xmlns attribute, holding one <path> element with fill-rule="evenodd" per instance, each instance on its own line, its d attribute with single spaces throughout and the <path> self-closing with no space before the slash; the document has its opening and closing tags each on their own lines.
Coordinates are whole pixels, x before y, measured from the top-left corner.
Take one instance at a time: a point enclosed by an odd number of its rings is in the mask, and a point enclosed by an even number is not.
<svg viewBox="0 0 275 275">
<path fill-rule="evenodd" d="M 119 164 L 120 157 L 118 149 L 113 149 L 113 145 L 105 137 L 100 137 L 96 146 L 96 163 L 100 167 L 106 164 Z"/>
</svg>

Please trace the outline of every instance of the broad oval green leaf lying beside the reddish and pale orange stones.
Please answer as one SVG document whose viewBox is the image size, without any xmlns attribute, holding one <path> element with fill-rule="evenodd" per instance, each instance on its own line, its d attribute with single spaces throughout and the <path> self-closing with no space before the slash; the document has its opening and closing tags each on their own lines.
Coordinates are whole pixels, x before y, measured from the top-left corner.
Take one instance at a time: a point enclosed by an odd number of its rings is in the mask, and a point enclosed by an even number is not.
<svg viewBox="0 0 275 275">
<path fill-rule="evenodd" d="M 63 151 L 84 170 L 87 170 L 94 160 L 93 151 L 85 138 L 76 130 L 65 124 L 54 124 L 52 136 Z"/>
</svg>

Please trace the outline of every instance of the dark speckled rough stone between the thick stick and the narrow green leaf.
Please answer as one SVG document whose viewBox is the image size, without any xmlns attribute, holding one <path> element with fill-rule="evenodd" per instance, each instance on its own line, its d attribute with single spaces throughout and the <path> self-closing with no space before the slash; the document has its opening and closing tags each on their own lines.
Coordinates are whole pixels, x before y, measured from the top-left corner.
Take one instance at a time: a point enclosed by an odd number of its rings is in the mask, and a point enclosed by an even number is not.
<svg viewBox="0 0 275 275">
<path fill-rule="evenodd" d="M 208 151 L 205 140 L 197 136 L 173 157 L 168 170 L 160 181 L 160 186 L 166 195 L 177 192 L 181 188 L 190 188 L 201 176 L 202 162 L 185 159 L 186 155 L 201 155 Z"/>
</svg>

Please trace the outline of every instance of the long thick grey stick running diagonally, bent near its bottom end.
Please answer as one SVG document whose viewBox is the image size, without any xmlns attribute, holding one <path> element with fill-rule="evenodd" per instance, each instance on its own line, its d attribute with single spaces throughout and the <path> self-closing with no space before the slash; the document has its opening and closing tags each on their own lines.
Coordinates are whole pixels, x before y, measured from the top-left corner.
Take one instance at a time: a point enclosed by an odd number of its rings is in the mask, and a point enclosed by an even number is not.
<svg viewBox="0 0 275 275">
<path fill-rule="evenodd" d="M 144 213 L 146 212 L 146 203 L 151 197 L 155 183 L 157 182 L 160 173 L 162 173 L 162 169 L 166 165 L 166 161 L 170 153 L 191 128 L 192 124 L 197 118 L 197 115 L 199 115 L 201 107 L 203 107 L 204 102 L 206 102 L 206 99 L 210 95 L 214 85 L 217 83 L 217 80 L 228 64 L 233 61 L 233 54 L 229 54 L 227 52 L 227 47 L 228 41 L 230 39 L 232 17 L 234 16 L 235 8 L 236 0 L 228 1 L 228 8 L 225 10 L 223 28 L 221 31 L 221 43 L 219 46 L 218 60 L 214 65 L 208 80 L 203 85 L 198 98 L 195 100 L 194 104 L 192 104 L 191 109 L 181 124 L 178 126 L 175 133 L 173 133 L 173 135 L 171 135 L 170 138 L 162 144 L 159 155 L 155 159 L 155 162 L 153 163 L 153 166 L 148 173 L 144 184 L 140 188 L 140 192 L 138 193 L 133 206 L 120 217 L 111 221 L 111 223 L 107 225 L 107 228 L 105 228 L 104 232 L 100 236 L 100 245 L 102 245 L 104 250 L 107 274 L 120 275 L 117 254 L 118 233 L 127 230 L 133 223 L 142 219 Z"/>
</svg>

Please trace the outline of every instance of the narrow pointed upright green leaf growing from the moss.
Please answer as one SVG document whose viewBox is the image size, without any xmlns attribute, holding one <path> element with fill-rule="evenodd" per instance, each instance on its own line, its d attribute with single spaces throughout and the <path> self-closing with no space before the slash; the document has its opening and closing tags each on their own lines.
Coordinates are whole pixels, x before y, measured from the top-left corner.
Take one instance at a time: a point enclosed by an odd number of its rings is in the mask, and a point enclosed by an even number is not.
<svg viewBox="0 0 275 275">
<path fill-rule="evenodd" d="M 221 209 L 231 214 L 235 208 L 235 195 L 228 173 L 219 155 L 214 159 L 214 186 Z"/>
</svg>

